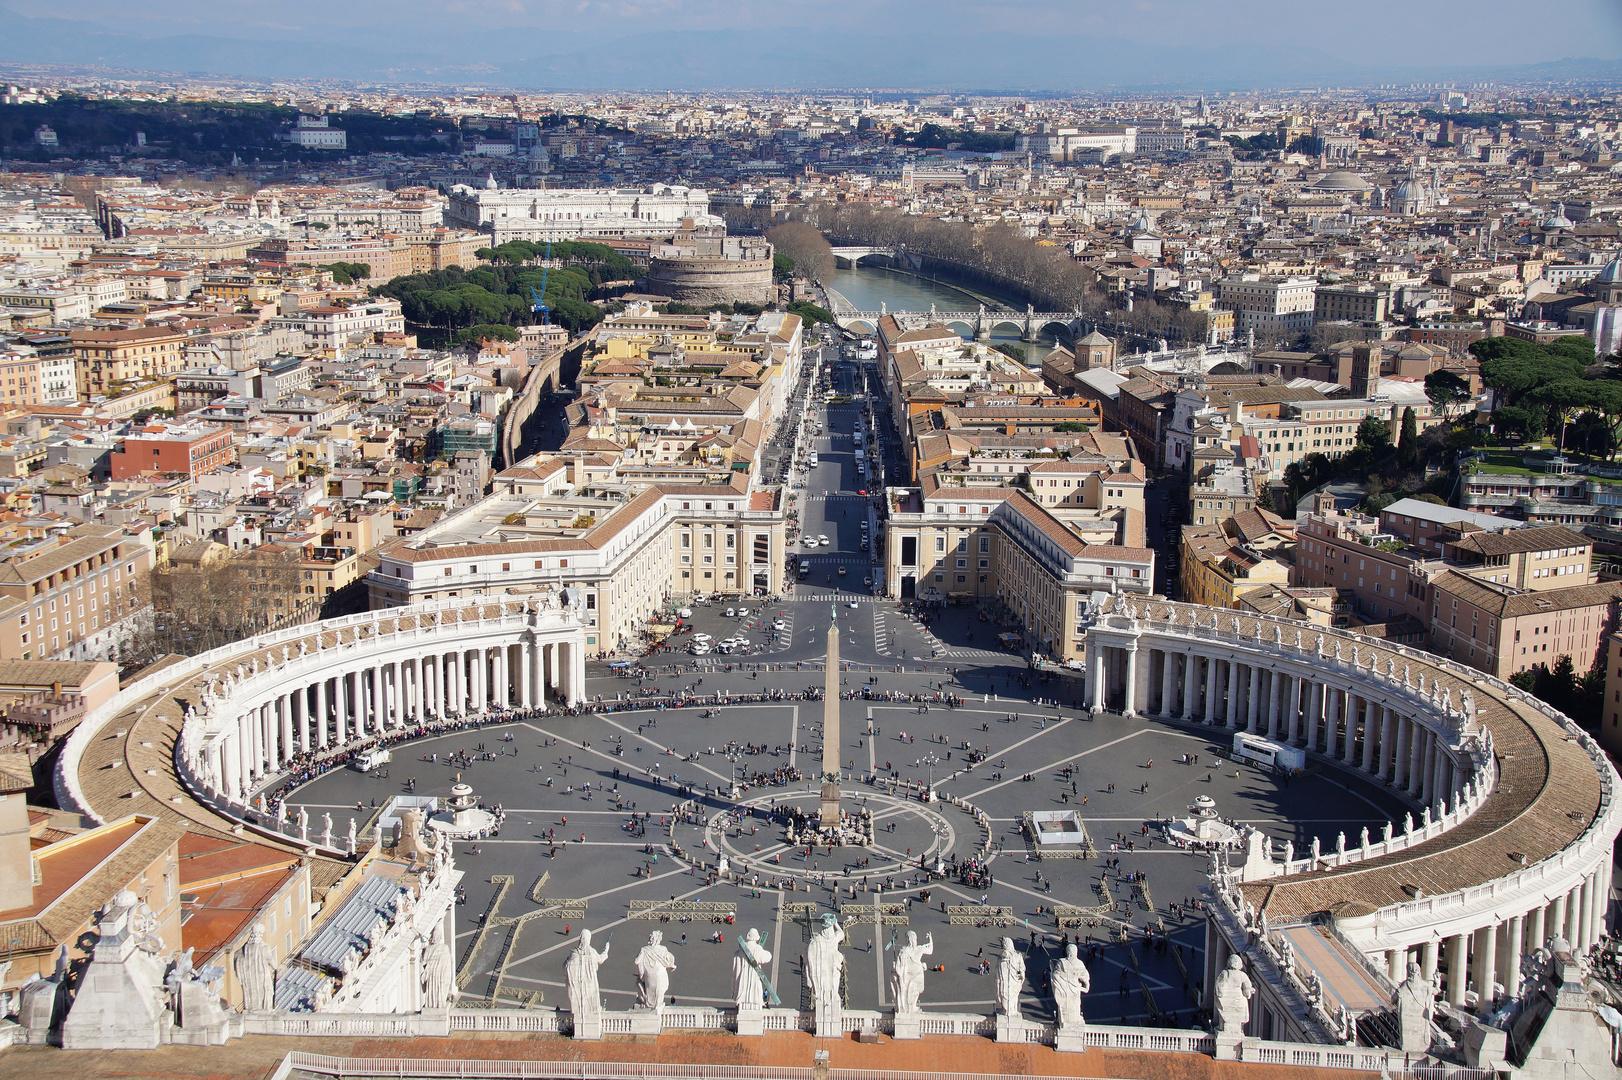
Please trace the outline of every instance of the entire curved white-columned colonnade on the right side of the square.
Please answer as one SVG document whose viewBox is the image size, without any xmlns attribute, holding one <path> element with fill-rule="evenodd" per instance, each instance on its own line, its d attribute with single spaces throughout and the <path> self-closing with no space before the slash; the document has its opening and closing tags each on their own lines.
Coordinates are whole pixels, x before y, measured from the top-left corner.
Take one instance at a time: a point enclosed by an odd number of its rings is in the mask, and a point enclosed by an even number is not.
<svg viewBox="0 0 1622 1080">
<path fill-rule="evenodd" d="M 1570 718 L 1507 683 L 1343 631 L 1165 602 L 1118 600 L 1087 632 L 1087 665 L 1095 710 L 1298 746 L 1413 806 L 1377 842 L 1341 834 L 1283 859 L 1262 845 L 1220 872 L 1207 986 L 1229 952 L 1254 954 L 1265 976 L 1288 952 L 1270 929 L 1325 916 L 1382 986 L 1413 962 L 1455 1005 L 1494 983 L 1518 992 L 1520 957 L 1547 939 L 1581 952 L 1606 932 L 1617 774 Z M 1280 1020 L 1304 1035 L 1311 1015 L 1289 997 L 1281 1012 L 1299 1023 Z"/>
</svg>

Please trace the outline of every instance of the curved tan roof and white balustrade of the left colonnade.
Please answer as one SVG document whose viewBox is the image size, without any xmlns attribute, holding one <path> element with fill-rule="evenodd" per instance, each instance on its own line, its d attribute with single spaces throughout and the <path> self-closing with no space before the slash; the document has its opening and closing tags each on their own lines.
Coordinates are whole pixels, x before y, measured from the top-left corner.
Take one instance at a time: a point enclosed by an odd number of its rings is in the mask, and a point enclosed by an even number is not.
<svg viewBox="0 0 1622 1080">
<path fill-rule="evenodd" d="M 329 655 L 334 671 L 365 658 L 368 644 L 396 647 L 397 634 L 446 631 L 480 621 L 513 618 L 540 610 L 539 597 L 459 597 L 418 603 L 409 608 L 307 623 L 222 645 L 196 657 L 172 658 L 149 668 L 109 702 L 84 718 L 63 748 L 57 765 L 58 803 L 107 822 L 127 814 L 149 814 L 174 821 L 193 832 L 217 838 L 243 838 L 243 825 L 209 806 L 182 782 L 175 764 L 177 741 L 185 723 L 185 707 L 206 699 L 209 686 L 238 679 L 238 670 L 258 665 L 261 675 L 284 663 L 284 649 L 297 662 Z M 318 645 L 320 644 L 320 645 Z M 362 652 L 357 652 L 362 650 Z M 336 751 L 337 748 L 334 748 Z M 308 853 L 307 845 L 276 834 L 253 832 L 250 838 L 292 853 Z M 336 879 L 344 864 L 316 856 L 313 884 L 324 876 Z M 326 866 L 331 863 L 331 866 Z"/>
</svg>

